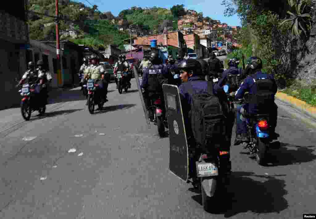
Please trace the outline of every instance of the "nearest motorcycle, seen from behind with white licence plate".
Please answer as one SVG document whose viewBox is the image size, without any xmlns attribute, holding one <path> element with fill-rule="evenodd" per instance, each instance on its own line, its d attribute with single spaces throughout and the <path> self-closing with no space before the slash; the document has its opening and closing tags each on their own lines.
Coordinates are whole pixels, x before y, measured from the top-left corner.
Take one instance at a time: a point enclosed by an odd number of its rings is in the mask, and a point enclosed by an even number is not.
<svg viewBox="0 0 316 219">
<path fill-rule="evenodd" d="M 226 191 L 229 185 L 229 174 L 227 168 L 230 163 L 228 151 L 220 151 L 219 144 L 214 144 L 212 149 L 189 149 L 191 162 L 194 161 L 194 154 L 198 153 L 199 159 L 192 162 L 195 164 L 196 177 L 193 179 L 193 186 L 201 192 L 202 205 L 205 211 L 216 211 L 220 205 L 218 197 L 222 197 L 222 192 Z M 192 160 L 193 159 L 193 160 Z"/>
</svg>

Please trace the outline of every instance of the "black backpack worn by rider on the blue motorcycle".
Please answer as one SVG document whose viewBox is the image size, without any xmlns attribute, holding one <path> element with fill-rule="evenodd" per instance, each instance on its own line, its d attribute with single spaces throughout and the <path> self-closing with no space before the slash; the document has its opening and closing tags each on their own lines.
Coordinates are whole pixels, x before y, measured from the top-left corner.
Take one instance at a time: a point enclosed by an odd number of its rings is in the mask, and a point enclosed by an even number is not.
<svg viewBox="0 0 316 219">
<path fill-rule="evenodd" d="M 256 93 L 250 95 L 249 103 L 257 105 L 259 108 L 265 108 L 267 104 L 274 102 L 276 83 L 269 78 L 256 78 L 255 74 L 251 75 L 254 80 L 252 86 L 256 86 Z"/>
</svg>

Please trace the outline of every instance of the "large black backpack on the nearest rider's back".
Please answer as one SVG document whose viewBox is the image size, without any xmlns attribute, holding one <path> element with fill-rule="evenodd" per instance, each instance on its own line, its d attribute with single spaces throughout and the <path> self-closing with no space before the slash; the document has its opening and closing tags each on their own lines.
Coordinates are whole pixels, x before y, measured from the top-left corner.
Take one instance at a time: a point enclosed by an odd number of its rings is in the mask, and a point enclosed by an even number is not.
<svg viewBox="0 0 316 219">
<path fill-rule="evenodd" d="M 196 94 L 191 82 L 187 82 L 186 90 L 192 95 L 189 118 L 195 141 L 202 147 L 221 143 L 225 130 L 225 116 L 218 97 L 213 94 L 212 82 L 207 82 L 207 92 Z"/>
</svg>

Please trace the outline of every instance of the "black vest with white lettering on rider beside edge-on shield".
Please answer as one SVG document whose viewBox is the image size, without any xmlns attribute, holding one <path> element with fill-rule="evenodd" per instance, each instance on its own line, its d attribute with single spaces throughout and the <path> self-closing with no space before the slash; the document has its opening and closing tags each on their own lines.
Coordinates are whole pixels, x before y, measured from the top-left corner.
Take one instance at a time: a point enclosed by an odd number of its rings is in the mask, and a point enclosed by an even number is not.
<svg viewBox="0 0 316 219">
<path fill-rule="evenodd" d="M 162 92 L 160 78 L 162 76 L 163 65 L 153 65 L 148 69 L 148 91 Z"/>
</svg>

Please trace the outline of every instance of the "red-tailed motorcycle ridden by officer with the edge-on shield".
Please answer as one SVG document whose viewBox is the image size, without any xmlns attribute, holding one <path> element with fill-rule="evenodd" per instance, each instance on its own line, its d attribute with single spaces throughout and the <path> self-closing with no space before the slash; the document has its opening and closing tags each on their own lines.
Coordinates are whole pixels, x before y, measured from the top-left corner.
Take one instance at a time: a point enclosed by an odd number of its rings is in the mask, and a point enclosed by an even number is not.
<svg viewBox="0 0 316 219">
<path fill-rule="evenodd" d="M 161 93 L 155 94 L 151 98 L 151 106 L 149 107 L 149 111 L 151 111 L 150 120 L 154 122 L 158 127 L 158 134 L 160 137 L 165 135 L 165 127 L 168 128 L 168 121 L 166 118 L 165 106 L 161 101 Z"/>
</svg>

